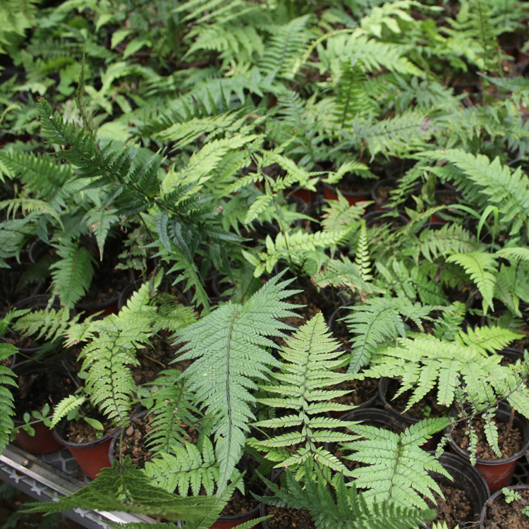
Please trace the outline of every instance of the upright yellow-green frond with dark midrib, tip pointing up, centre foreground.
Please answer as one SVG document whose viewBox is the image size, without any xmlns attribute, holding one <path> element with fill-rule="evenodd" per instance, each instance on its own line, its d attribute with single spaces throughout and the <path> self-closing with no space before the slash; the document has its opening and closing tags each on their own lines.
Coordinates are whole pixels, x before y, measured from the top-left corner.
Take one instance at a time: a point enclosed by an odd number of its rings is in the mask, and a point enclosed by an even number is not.
<svg viewBox="0 0 529 529">
<path fill-rule="evenodd" d="M 296 430 L 264 441 L 255 441 L 252 445 L 261 451 L 267 451 L 267 458 L 278 462 L 275 468 L 295 468 L 297 479 L 302 477 L 305 463 L 310 465 L 316 460 L 322 466 L 348 474 L 346 467 L 339 463 L 335 456 L 322 449 L 324 442 L 345 442 L 354 439 L 354 436 L 349 434 L 333 431 L 335 428 L 346 426 L 346 422 L 322 417 L 323 413 L 329 411 L 345 413 L 353 408 L 332 402 L 332 399 L 348 394 L 348 391 L 322 389 L 351 378 L 350 375 L 334 371 L 343 364 L 343 354 L 338 351 L 339 343 L 329 334 L 321 312 L 317 312 L 285 341 L 286 346 L 279 351 L 284 360 L 281 372 L 274 374 L 274 379 L 279 384 L 260 387 L 263 391 L 277 396 L 257 400 L 272 408 L 285 408 L 288 414 L 260 420 L 255 426 L 294 427 Z M 281 453 L 281 448 L 295 445 L 298 446 L 293 451 Z"/>
</svg>

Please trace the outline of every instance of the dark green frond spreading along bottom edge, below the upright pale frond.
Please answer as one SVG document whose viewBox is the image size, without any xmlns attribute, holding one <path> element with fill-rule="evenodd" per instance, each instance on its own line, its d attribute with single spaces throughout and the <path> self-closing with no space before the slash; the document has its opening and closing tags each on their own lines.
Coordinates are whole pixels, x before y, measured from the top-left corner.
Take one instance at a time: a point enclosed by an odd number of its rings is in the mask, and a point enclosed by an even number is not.
<svg viewBox="0 0 529 529">
<path fill-rule="evenodd" d="M 336 474 L 330 486 L 317 468 L 315 479 L 298 483 L 293 473 L 285 472 L 285 486 L 265 480 L 273 492 L 261 497 L 269 505 L 307 509 L 316 527 L 333 529 L 410 529 L 434 517 L 434 511 L 418 511 L 394 501 L 367 502 L 363 492 L 346 487 L 343 474 Z"/>
</svg>

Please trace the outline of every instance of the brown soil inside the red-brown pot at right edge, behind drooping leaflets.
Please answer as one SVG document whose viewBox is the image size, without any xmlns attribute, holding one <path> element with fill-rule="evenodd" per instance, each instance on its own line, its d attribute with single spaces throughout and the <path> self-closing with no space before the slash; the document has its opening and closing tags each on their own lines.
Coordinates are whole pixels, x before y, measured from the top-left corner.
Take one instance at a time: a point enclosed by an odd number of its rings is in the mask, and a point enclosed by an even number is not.
<svg viewBox="0 0 529 529">
<path fill-rule="evenodd" d="M 494 454 L 492 448 L 487 443 L 485 437 L 485 420 L 482 418 L 476 418 L 473 420 L 473 427 L 475 432 L 478 435 L 478 458 L 479 459 L 499 459 L 499 457 Z M 522 432 L 516 426 L 511 427 L 511 430 L 506 434 L 508 425 L 504 422 L 497 422 L 499 440 L 498 446 L 501 451 L 501 458 L 509 458 L 514 454 L 517 454 L 522 447 Z M 468 428 L 466 425 L 460 425 L 459 427 L 452 432 L 452 438 L 461 446 L 462 449 L 468 449 L 469 437 L 466 433 Z"/>
</svg>

